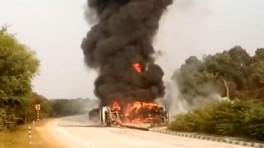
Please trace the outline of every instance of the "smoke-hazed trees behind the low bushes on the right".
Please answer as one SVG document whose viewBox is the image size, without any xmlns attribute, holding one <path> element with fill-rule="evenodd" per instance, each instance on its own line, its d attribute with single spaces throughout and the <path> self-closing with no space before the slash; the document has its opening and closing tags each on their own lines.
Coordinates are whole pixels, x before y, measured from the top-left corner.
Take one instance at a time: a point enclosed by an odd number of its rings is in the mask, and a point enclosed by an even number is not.
<svg viewBox="0 0 264 148">
<path fill-rule="evenodd" d="M 175 71 L 172 80 L 190 103 L 212 93 L 231 100 L 263 100 L 264 48 L 258 48 L 253 56 L 241 46 L 202 59 L 191 56 Z"/>
</svg>

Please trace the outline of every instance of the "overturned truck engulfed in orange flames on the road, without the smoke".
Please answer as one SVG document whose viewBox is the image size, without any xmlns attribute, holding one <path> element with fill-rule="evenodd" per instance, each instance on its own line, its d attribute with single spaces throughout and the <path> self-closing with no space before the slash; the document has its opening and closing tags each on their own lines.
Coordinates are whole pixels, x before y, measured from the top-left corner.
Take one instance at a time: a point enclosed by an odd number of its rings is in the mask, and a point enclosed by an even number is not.
<svg viewBox="0 0 264 148">
<path fill-rule="evenodd" d="M 158 107 L 156 103 L 133 102 L 122 110 L 115 102 L 113 106 L 99 108 L 99 120 L 102 125 L 110 126 L 122 123 L 167 124 L 167 108 Z"/>
</svg>

